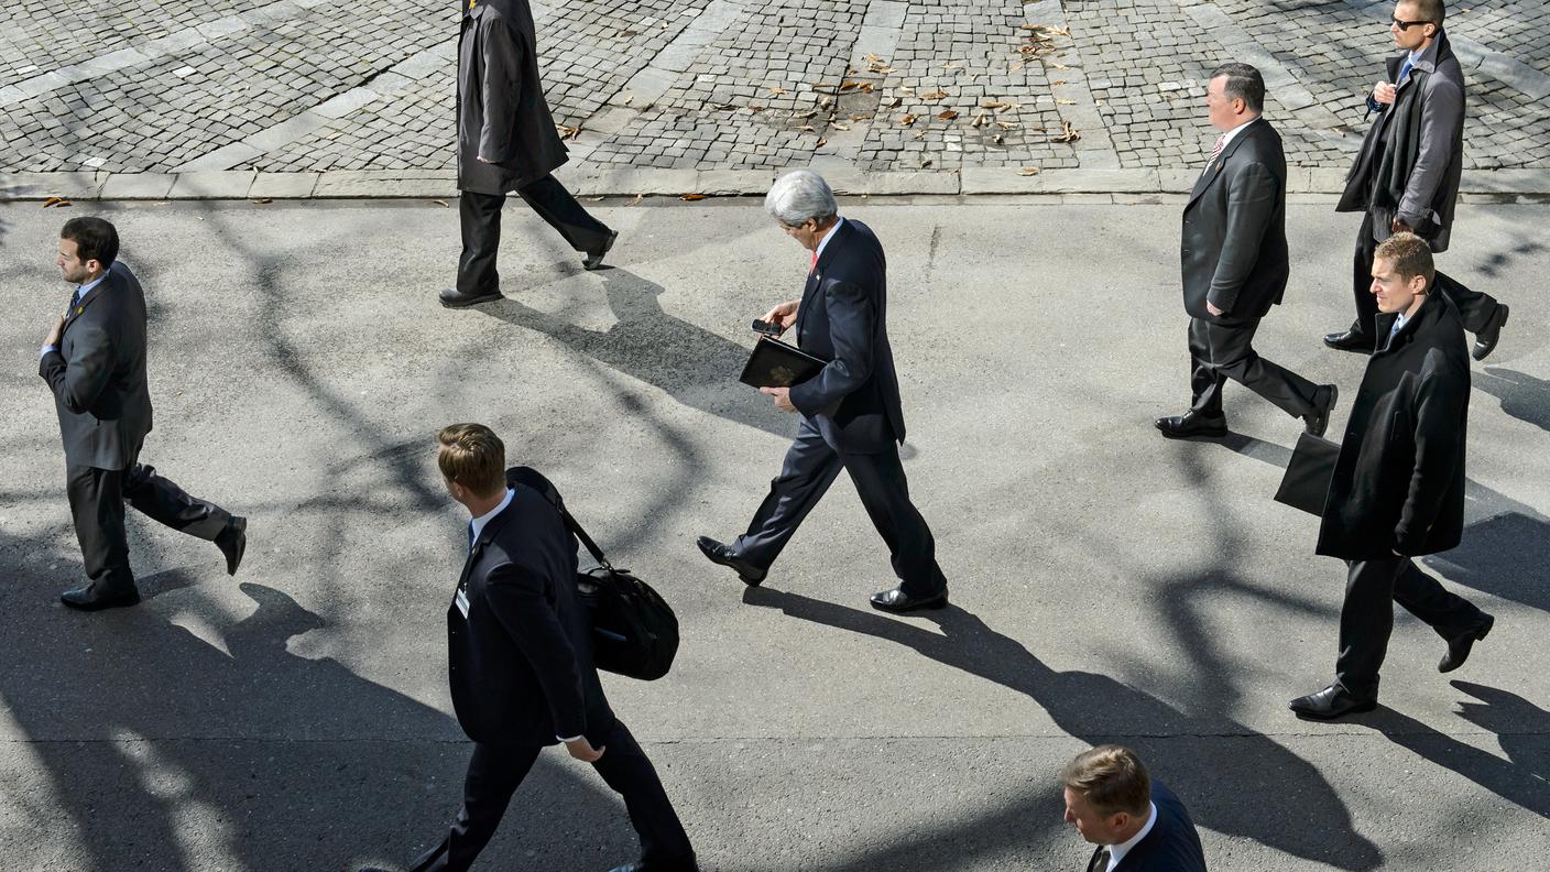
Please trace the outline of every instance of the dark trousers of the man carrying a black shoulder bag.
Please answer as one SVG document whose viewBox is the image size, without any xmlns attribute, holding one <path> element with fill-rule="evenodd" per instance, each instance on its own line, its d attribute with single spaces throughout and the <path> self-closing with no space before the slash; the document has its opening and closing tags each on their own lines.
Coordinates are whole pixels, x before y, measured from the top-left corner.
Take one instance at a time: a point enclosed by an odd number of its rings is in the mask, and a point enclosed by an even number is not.
<svg viewBox="0 0 1550 872">
<path fill-rule="evenodd" d="M 629 822 L 640 836 L 642 860 L 673 864 L 691 856 L 694 849 L 690 847 L 684 824 L 673 811 L 656 768 L 625 723 L 615 718 L 612 728 L 589 739 L 594 746 L 603 746 L 603 756 L 592 768 L 625 799 Z M 463 807 L 457 811 L 451 832 L 442 844 L 415 860 L 411 872 L 448 872 L 473 866 L 539 751 L 542 748 L 538 745 L 476 743 L 463 780 Z"/>
</svg>

